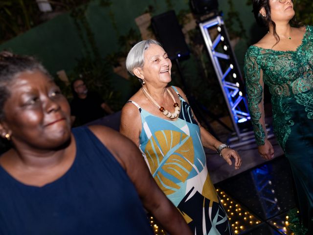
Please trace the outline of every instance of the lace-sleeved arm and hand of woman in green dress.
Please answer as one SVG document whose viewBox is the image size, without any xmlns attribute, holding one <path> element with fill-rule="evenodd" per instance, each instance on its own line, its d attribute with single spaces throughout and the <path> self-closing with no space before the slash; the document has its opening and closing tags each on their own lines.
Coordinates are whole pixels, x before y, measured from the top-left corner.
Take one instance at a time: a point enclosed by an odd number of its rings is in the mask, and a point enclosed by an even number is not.
<svg viewBox="0 0 313 235">
<path fill-rule="evenodd" d="M 248 108 L 259 153 L 263 158 L 271 159 L 274 156 L 274 149 L 267 139 L 265 127 L 263 71 L 256 59 L 253 47 L 248 48 L 244 66 Z"/>
</svg>

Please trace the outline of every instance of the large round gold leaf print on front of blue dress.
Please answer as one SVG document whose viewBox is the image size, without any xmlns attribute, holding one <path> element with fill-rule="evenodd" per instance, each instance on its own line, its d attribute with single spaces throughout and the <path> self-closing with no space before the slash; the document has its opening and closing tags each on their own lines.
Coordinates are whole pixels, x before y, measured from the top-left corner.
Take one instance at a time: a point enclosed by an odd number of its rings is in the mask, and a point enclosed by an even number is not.
<svg viewBox="0 0 313 235">
<path fill-rule="evenodd" d="M 180 188 L 193 169 L 192 138 L 173 130 L 157 131 L 146 146 L 151 174 L 166 195 Z M 150 150 L 150 151 L 149 151 Z"/>
</svg>

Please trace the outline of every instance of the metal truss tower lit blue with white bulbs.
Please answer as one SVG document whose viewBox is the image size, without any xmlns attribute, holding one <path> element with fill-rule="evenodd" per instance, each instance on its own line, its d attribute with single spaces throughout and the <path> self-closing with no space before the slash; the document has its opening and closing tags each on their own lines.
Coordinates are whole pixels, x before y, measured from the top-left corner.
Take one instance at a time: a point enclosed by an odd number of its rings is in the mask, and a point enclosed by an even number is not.
<svg viewBox="0 0 313 235">
<path fill-rule="evenodd" d="M 224 21 L 221 16 L 215 16 L 199 26 L 235 130 L 235 137 L 228 142 L 232 142 L 232 146 L 253 142 L 253 132 L 240 128 L 241 123 L 250 121 L 250 115 L 243 78 Z"/>
</svg>

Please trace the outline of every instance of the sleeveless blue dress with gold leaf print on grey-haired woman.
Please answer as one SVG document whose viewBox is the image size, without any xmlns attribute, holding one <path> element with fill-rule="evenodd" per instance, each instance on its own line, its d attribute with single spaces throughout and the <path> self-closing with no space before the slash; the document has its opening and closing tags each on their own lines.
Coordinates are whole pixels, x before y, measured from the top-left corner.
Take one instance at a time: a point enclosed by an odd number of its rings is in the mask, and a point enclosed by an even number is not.
<svg viewBox="0 0 313 235">
<path fill-rule="evenodd" d="M 157 185 L 195 235 L 233 235 L 208 174 L 200 128 L 189 104 L 179 99 L 177 120 L 156 117 L 130 101 L 141 116 L 140 150 Z"/>
</svg>

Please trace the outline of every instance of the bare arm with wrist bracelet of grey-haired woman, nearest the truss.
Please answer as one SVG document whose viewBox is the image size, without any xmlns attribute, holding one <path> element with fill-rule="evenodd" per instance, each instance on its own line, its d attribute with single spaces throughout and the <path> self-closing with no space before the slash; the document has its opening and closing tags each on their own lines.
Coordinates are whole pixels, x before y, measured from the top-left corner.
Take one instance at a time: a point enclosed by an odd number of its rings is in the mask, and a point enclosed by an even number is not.
<svg viewBox="0 0 313 235">
<path fill-rule="evenodd" d="M 183 93 L 183 91 L 181 89 L 179 89 L 178 87 L 176 87 L 179 91 L 179 94 L 186 100 L 186 102 L 188 102 L 188 99 L 186 97 L 186 95 Z M 196 118 L 195 114 L 192 111 L 192 114 L 195 118 L 195 120 L 197 121 L 199 127 L 200 127 L 200 134 L 201 134 L 201 142 L 202 145 L 206 148 L 210 148 L 212 150 L 218 150 L 218 147 L 223 144 L 221 141 L 218 141 L 214 136 L 212 136 L 203 126 L 201 126 L 200 122 L 198 121 L 198 119 Z M 222 157 L 224 158 L 224 160 L 231 165 L 231 159 L 233 158 L 235 160 L 235 169 L 239 169 L 239 167 L 241 166 L 241 158 L 239 156 L 239 154 L 237 153 L 237 151 L 230 149 L 230 148 L 224 148 L 221 151 Z"/>
</svg>

